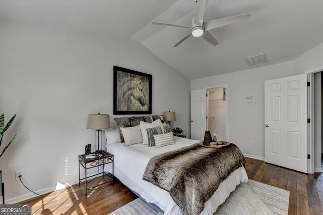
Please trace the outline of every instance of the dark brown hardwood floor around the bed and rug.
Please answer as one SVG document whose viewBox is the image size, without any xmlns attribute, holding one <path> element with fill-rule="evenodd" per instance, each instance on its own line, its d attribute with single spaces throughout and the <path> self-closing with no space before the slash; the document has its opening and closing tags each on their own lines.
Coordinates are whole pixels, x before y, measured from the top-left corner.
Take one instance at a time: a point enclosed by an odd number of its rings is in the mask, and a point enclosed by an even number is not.
<svg viewBox="0 0 323 215">
<path fill-rule="evenodd" d="M 246 171 L 252 180 L 289 190 L 289 214 L 323 214 L 323 173 L 307 175 L 251 158 L 246 158 Z M 109 214 L 137 198 L 118 180 L 88 193 L 86 197 L 84 189 L 75 185 L 21 204 L 31 204 L 33 214 Z"/>
</svg>

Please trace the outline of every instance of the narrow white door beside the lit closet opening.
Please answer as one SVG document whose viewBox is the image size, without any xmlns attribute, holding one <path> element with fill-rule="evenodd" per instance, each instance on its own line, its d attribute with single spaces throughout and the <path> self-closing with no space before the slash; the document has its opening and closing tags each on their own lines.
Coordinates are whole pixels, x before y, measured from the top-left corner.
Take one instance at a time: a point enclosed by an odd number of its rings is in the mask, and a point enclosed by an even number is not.
<svg viewBox="0 0 323 215">
<path fill-rule="evenodd" d="M 206 90 L 191 91 L 191 139 L 203 140 L 206 129 Z"/>
</svg>

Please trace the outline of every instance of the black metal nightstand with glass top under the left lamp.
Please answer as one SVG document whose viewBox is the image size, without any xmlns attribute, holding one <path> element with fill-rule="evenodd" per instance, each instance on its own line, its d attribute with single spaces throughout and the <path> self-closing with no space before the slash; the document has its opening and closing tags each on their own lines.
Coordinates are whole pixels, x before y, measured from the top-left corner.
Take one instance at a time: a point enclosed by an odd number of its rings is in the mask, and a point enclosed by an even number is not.
<svg viewBox="0 0 323 215">
<path fill-rule="evenodd" d="M 113 166 L 114 155 L 113 154 L 110 154 L 107 151 L 103 151 L 103 155 L 100 158 L 86 159 L 85 157 L 86 157 L 85 154 L 79 155 L 79 185 L 82 185 L 83 188 L 85 189 L 85 195 L 87 195 L 87 190 L 88 190 L 87 183 L 88 183 L 88 179 L 90 177 L 97 176 L 100 174 L 103 174 L 103 178 L 109 177 L 109 180 L 105 181 L 104 183 L 90 187 L 90 188 L 94 188 L 94 187 L 97 187 L 97 186 L 100 186 L 100 185 L 103 185 L 103 184 L 106 184 L 109 182 L 112 182 L 112 184 L 113 184 L 113 178 L 114 178 L 114 175 L 113 175 L 114 174 L 113 173 L 113 171 L 114 171 L 114 166 Z M 106 164 L 112 164 L 112 174 L 104 172 L 104 166 Z M 82 179 L 80 178 L 80 166 L 82 166 L 85 170 L 85 178 L 82 178 Z M 88 169 L 91 169 L 94 167 L 99 168 L 100 166 L 103 166 L 103 172 L 95 174 L 95 175 L 91 175 L 91 176 L 87 175 Z"/>
</svg>

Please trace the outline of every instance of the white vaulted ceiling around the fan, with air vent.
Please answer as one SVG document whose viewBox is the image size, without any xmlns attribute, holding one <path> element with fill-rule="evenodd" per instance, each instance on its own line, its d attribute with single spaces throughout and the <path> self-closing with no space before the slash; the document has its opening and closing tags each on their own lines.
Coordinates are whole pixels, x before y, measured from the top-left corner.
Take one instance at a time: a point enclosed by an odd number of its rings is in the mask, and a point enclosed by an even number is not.
<svg viewBox="0 0 323 215">
<path fill-rule="evenodd" d="M 261 53 L 268 63 L 260 66 L 293 60 L 323 43 L 323 0 L 209 0 L 205 21 L 252 14 L 210 31 L 220 43 L 215 47 L 190 37 L 174 48 L 190 30 L 150 24 L 190 25 L 195 7 L 194 0 L 0 0 L 0 18 L 131 38 L 189 79 L 249 69 L 245 58 Z"/>
</svg>

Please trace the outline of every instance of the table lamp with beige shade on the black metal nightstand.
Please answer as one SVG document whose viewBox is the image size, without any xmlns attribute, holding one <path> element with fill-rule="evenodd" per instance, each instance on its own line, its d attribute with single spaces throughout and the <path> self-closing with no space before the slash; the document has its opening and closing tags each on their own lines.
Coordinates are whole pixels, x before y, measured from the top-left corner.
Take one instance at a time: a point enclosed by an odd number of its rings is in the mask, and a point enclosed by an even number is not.
<svg viewBox="0 0 323 215">
<path fill-rule="evenodd" d="M 95 130 L 95 153 L 102 154 L 102 129 L 110 128 L 109 114 L 89 114 L 87 118 L 87 129 Z M 100 148 L 100 134 L 101 134 L 101 148 Z M 96 143 L 97 136 L 97 143 Z M 96 148 L 97 144 L 97 148 Z"/>
</svg>

